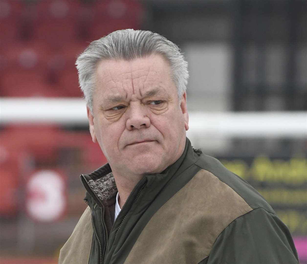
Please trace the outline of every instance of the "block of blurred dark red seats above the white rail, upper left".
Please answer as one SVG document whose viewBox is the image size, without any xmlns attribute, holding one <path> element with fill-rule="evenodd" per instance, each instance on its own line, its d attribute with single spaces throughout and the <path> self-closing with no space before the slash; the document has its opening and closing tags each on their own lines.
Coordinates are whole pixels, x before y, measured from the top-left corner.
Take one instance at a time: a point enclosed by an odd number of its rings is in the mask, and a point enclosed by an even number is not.
<svg viewBox="0 0 307 264">
<path fill-rule="evenodd" d="M 82 96 L 76 57 L 111 31 L 139 28 L 142 14 L 130 0 L 0 0 L 0 96 Z"/>
</svg>

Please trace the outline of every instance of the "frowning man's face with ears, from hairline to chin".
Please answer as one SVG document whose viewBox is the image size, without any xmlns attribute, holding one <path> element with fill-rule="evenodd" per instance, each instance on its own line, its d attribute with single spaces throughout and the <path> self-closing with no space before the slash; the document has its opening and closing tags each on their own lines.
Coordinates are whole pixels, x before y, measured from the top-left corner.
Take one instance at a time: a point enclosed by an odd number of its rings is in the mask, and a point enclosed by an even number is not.
<svg viewBox="0 0 307 264">
<path fill-rule="evenodd" d="M 186 94 L 178 99 L 161 55 L 98 64 L 90 131 L 113 172 L 160 173 L 185 147 Z"/>
</svg>

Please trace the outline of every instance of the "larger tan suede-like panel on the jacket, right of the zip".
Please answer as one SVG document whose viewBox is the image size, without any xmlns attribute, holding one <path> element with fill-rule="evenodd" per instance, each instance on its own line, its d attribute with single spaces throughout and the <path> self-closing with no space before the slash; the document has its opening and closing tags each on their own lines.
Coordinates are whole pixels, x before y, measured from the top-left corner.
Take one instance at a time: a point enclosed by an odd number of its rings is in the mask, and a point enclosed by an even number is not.
<svg viewBox="0 0 307 264">
<path fill-rule="evenodd" d="M 225 227 L 251 210 L 232 188 L 201 169 L 153 215 L 125 264 L 199 263 Z"/>
</svg>

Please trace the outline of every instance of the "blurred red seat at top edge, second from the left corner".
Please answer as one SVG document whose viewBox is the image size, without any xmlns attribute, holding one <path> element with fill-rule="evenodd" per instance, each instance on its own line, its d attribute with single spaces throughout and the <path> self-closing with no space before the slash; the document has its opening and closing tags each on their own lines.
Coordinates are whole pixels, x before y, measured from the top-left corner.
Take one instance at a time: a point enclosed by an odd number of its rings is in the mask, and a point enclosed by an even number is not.
<svg viewBox="0 0 307 264">
<path fill-rule="evenodd" d="M 37 1 L 36 15 L 32 21 L 33 37 L 52 45 L 78 39 L 82 5 L 80 1 Z"/>
</svg>

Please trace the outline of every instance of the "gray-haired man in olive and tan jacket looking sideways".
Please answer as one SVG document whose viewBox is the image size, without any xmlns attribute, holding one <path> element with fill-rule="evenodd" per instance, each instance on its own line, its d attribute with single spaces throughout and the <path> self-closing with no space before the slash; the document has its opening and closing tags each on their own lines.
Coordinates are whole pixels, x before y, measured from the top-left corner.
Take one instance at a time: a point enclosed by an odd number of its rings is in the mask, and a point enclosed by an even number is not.
<svg viewBox="0 0 307 264">
<path fill-rule="evenodd" d="M 188 70 L 175 44 L 119 30 L 76 65 L 108 163 L 81 175 L 88 207 L 59 263 L 298 263 L 262 196 L 186 138 Z"/>
</svg>

